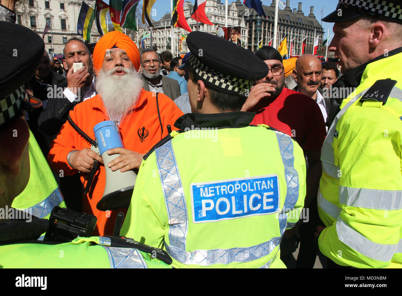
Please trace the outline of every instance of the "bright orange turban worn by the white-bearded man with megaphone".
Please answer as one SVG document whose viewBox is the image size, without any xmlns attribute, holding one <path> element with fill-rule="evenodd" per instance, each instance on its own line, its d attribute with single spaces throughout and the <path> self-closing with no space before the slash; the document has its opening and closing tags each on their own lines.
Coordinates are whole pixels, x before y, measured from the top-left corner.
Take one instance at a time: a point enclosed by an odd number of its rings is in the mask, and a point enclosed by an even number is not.
<svg viewBox="0 0 402 296">
<path fill-rule="evenodd" d="M 106 51 L 111 49 L 113 46 L 117 46 L 118 48 L 124 50 L 133 63 L 135 70 L 138 71 L 139 50 L 133 40 L 119 31 L 111 31 L 103 35 L 103 37 L 100 38 L 96 43 L 93 56 L 94 69 L 99 71 L 102 68 Z"/>
</svg>

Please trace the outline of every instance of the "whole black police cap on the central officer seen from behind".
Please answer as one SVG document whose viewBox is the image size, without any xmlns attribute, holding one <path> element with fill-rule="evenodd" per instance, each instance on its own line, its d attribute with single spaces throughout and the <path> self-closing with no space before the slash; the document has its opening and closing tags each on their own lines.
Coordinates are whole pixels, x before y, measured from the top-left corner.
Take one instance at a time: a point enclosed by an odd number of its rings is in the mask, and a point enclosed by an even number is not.
<svg viewBox="0 0 402 296">
<path fill-rule="evenodd" d="M 191 52 L 179 68 L 191 70 L 206 85 L 237 95 L 250 90 L 253 81 L 263 79 L 268 66 L 252 52 L 215 35 L 194 31 L 187 36 Z"/>
</svg>

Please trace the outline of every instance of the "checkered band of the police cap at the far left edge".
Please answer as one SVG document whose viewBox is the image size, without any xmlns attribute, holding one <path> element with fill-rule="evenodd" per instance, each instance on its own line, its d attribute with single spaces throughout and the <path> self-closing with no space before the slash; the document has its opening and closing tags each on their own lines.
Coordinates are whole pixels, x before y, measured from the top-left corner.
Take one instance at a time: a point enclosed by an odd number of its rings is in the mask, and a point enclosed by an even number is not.
<svg viewBox="0 0 402 296">
<path fill-rule="evenodd" d="M 21 85 L 3 99 L 0 99 L 0 130 L 8 126 L 14 117 L 20 115 L 21 105 L 25 99 L 25 87 Z"/>
</svg>

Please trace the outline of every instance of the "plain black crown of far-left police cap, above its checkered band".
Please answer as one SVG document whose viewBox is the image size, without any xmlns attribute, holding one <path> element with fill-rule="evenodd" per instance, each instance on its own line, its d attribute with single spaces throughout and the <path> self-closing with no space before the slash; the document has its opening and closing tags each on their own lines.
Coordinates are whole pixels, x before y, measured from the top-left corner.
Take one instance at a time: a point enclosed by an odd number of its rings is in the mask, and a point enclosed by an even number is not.
<svg viewBox="0 0 402 296">
<path fill-rule="evenodd" d="M 0 98 L 26 83 L 43 57 L 45 43 L 27 27 L 0 21 Z"/>
</svg>

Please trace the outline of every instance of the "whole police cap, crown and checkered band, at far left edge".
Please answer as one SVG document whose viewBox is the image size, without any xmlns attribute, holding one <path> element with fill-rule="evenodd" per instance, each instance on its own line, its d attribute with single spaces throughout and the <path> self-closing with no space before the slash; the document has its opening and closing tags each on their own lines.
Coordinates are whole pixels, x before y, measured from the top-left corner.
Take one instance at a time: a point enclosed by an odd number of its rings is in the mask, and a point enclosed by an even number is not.
<svg viewBox="0 0 402 296">
<path fill-rule="evenodd" d="M 9 126 L 25 102 L 24 84 L 29 81 L 43 57 L 45 43 L 42 38 L 26 27 L 0 21 L 0 131 Z M 32 108 L 32 106 L 31 106 Z"/>
</svg>

